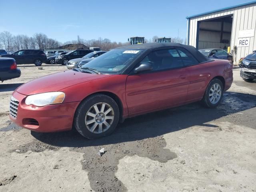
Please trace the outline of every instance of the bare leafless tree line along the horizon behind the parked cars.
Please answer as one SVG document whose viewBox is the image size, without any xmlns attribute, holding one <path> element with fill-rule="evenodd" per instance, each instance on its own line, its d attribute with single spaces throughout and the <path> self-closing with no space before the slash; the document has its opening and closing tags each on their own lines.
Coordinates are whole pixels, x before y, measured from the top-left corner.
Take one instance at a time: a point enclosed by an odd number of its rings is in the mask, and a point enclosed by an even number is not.
<svg viewBox="0 0 256 192">
<path fill-rule="evenodd" d="M 146 42 L 155 42 L 158 36 L 154 36 L 150 40 L 146 40 Z M 182 38 L 172 38 L 172 42 L 184 43 Z M 3 31 L 0 33 L 0 49 L 5 49 L 6 51 L 17 51 L 21 49 L 40 49 L 40 50 L 48 50 L 48 49 L 58 49 L 58 47 L 66 44 L 84 44 L 87 47 L 100 47 L 102 50 L 109 51 L 113 48 L 128 45 L 129 42 L 111 42 L 111 40 L 107 38 L 98 38 L 92 40 L 84 40 L 77 36 L 76 40 L 67 41 L 61 43 L 52 38 L 48 38 L 46 34 L 36 33 L 32 37 L 27 35 L 12 35 L 8 31 Z"/>
</svg>

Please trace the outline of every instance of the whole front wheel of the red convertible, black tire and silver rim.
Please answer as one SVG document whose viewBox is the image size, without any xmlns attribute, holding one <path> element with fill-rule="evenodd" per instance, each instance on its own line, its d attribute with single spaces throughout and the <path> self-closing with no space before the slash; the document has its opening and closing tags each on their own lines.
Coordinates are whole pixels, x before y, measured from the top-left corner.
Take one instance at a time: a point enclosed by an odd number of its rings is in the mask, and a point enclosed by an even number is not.
<svg viewBox="0 0 256 192">
<path fill-rule="evenodd" d="M 118 105 L 104 94 L 94 94 L 86 98 L 80 103 L 74 116 L 74 127 L 88 139 L 111 134 L 118 122 Z"/>
</svg>

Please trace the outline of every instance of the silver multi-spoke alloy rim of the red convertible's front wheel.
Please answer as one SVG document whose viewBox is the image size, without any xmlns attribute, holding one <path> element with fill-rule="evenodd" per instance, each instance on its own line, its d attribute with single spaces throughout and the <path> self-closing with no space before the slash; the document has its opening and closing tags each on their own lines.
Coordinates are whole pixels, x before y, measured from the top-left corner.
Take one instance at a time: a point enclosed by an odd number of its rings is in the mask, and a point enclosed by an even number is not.
<svg viewBox="0 0 256 192">
<path fill-rule="evenodd" d="M 95 134 L 105 132 L 114 121 L 114 110 L 107 103 L 94 104 L 86 113 L 86 128 Z"/>
</svg>

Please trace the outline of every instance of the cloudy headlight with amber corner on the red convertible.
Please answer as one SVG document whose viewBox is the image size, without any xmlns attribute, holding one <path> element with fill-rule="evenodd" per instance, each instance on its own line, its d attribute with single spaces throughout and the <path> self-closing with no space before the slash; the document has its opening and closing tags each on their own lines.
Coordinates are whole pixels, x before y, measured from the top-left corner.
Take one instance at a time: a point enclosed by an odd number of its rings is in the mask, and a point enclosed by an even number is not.
<svg viewBox="0 0 256 192">
<path fill-rule="evenodd" d="M 25 103 L 26 105 L 42 107 L 46 105 L 62 103 L 64 98 L 65 94 L 63 92 L 40 93 L 28 96 L 25 100 Z"/>
</svg>

